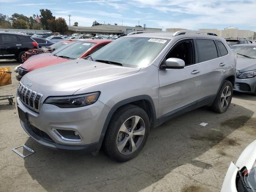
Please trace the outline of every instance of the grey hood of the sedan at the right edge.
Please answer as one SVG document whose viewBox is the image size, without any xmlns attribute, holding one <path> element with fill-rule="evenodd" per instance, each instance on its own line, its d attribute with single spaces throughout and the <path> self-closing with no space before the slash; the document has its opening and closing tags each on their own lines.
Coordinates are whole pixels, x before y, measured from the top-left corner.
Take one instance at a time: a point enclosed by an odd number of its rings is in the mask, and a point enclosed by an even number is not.
<svg viewBox="0 0 256 192">
<path fill-rule="evenodd" d="M 240 72 L 256 70 L 256 59 L 238 57 L 236 60 L 236 70 Z"/>
</svg>

